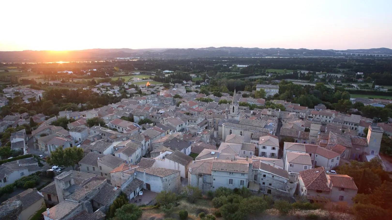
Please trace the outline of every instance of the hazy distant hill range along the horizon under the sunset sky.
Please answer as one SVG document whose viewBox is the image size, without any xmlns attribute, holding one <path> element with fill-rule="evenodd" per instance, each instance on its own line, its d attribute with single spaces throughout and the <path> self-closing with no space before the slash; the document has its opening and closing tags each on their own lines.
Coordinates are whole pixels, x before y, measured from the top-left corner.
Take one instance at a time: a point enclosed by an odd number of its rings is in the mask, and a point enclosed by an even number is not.
<svg viewBox="0 0 392 220">
<path fill-rule="evenodd" d="M 388 48 L 356 50 L 309 50 L 283 48 L 245 48 L 245 47 L 207 47 L 189 49 L 88 49 L 66 52 L 48 50 L 0 51 L 1 62 L 51 62 L 112 60 L 114 58 L 207 58 L 207 57 L 307 57 L 307 56 L 342 56 L 336 52 L 392 55 Z M 346 56 L 346 55 L 343 55 Z M 350 56 L 350 55 L 348 55 Z"/>
</svg>

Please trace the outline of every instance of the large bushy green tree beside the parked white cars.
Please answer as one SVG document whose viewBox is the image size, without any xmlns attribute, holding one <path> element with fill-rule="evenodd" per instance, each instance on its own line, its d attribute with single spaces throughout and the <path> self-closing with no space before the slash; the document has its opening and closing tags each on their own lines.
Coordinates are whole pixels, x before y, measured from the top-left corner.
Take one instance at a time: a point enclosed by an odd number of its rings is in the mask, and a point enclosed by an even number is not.
<svg viewBox="0 0 392 220">
<path fill-rule="evenodd" d="M 50 165 L 57 166 L 73 166 L 77 164 L 84 156 L 84 152 L 82 148 L 72 147 L 65 148 L 63 150 L 62 147 L 56 148 L 55 151 L 51 151 L 50 157 L 47 157 L 46 162 Z"/>
</svg>

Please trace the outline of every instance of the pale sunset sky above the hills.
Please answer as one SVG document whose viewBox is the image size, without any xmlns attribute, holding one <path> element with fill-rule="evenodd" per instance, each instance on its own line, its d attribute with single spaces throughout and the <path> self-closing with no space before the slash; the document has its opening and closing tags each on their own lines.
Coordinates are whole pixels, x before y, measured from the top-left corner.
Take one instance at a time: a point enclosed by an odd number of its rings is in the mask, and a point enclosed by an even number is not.
<svg viewBox="0 0 392 220">
<path fill-rule="evenodd" d="M 392 49 L 391 0 L 2 2 L 0 51 Z"/>
</svg>

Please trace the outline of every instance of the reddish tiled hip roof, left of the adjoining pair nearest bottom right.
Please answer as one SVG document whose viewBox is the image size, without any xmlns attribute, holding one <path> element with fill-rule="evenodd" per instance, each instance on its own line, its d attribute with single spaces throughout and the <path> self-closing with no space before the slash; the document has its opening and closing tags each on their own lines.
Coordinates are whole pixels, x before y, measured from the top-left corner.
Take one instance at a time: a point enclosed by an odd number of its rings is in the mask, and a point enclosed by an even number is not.
<svg viewBox="0 0 392 220">
<path fill-rule="evenodd" d="M 307 189 L 331 191 L 327 186 L 327 177 L 324 168 L 318 167 L 299 172 L 299 177 Z"/>
</svg>

